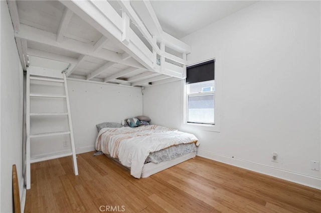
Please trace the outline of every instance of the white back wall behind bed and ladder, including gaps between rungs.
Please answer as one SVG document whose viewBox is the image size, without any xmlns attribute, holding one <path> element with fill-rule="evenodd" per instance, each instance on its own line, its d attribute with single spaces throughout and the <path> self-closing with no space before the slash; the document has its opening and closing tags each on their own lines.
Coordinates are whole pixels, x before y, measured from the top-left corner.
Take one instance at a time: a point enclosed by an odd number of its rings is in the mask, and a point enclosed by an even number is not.
<svg viewBox="0 0 321 213">
<path fill-rule="evenodd" d="M 63 84 L 52 83 L 50 86 L 33 84 L 31 92 L 64 94 Z M 71 117 L 77 153 L 95 150 L 97 137 L 96 124 L 101 122 L 119 122 L 121 119 L 142 114 L 142 95 L 140 88 L 91 83 L 68 79 L 68 92 Z M 67 112 L 63 99 L 34 98 L 30 101 L 31 112 Z M 41 117 L 31 119 L 31 132 L 68 131 L 67 116 Z M 49 153 L 70 150 L 64 141 L 70 142 L 69 135 L 57 135 L 32 138 L 32 156 L 45 156 Z"/>
</svg>

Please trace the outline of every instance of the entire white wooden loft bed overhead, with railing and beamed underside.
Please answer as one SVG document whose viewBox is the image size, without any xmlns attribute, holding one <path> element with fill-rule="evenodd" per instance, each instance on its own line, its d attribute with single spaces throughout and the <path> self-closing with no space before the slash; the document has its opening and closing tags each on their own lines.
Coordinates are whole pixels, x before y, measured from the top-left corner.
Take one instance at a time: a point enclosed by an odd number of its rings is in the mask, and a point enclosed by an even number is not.
<svg viewBox="0 0 321 213">
<path fill-rule="evenodd" d="M 8 0 L 24 70 L 53 61 L 68 78 L 127 86 L 184 79 L 191 47 L 162 30 L 149 1 Z M 63 68 L 62 68 L 63 69 Z"/>
</svg>

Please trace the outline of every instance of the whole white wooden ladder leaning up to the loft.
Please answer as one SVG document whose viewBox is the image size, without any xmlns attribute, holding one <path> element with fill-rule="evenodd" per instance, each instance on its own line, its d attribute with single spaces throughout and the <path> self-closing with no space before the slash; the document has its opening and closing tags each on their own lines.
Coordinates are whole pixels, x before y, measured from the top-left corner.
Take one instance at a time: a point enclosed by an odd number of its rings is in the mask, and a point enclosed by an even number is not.
<svg viewBox="0 0 321 213">
<path fill-rule="evenodd" d="M 69 96 L 68 96 L 68 87 L 67 87 L 67 78 L 66 78 L 66 71 L 69 66 L 64 69 L 63 71 L 55 70 L 55 69 L 48 69 L 42 68 L 37 66 L 29 66 L 27 68 L 27 79 L 26 79 L 26 129 L 27 129 L 27 141 L 26 141 L 26 183 L 27 189 L 31 188 L 31 163 L 39 162 L 49 159 L 55 159 L 59 157 L 71 156 L 73 160 L 73 168 L 75 175 L 78 175 L 78 167 L 77 167 L 77 159 L 76 159 L 76 151 L 75 151 L 75 142 L 74 142 L 74 134 L 72 129 L 72 122 L 71 122 L 71 113 L 70 113 L 70 103 L 69 103 Z M 43 86 L 46 86 L 47 83 L 58 83 L 64 85 L 65 94 L 49 94 L 49 93 L 30 93 L 30 86 L 35 82 L 41 82 Z M 52 98 L 55 99 L 65 99 L 67 104 L 67 112 L 31 112 L 30 108 L 30 101 L 32 99 L 38 99 L 38 102 L 43 101 L 43 98 L 48 98 L 51 100 Z M 50 101 L 49 100 L 49 101 Z M 45 132 L 45 133 L 31 133 L 31 117 L 35 116 L 42 116 L 50 119 L 53 116 L 68 116 L 68 126 L 69 130 L 67 131 L 56 131 L 56 132 Z M 44 154 L 41 157 L 39 156 L 31 156 L 31 144 L 33 142 L 32 138 L 36 137 L 47 137 L 47 136 L 54 136 L 54 135 L 70 135 L 70 143 L 71 143 L 71 150 L 67 151 L 60 151 L 57 153 L 50 153 Z"/>
</svg>

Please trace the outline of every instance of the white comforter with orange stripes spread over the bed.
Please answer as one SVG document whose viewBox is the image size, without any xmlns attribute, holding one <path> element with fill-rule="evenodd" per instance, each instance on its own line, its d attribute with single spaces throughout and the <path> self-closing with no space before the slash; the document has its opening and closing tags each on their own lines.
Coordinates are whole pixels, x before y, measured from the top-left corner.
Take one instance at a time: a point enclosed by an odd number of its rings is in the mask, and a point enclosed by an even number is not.
<svg viewBox="0 0 321 213">
<path fill-rule="evenodd" d="M 130 167 L 130 174 L 140 178 L 144 161 L 150 152 L 180 143 L 195 142 L 194 134 L 158 125 L 135 128 L 102 128 L 97 136 L 95 148 Z"/>
</svg>

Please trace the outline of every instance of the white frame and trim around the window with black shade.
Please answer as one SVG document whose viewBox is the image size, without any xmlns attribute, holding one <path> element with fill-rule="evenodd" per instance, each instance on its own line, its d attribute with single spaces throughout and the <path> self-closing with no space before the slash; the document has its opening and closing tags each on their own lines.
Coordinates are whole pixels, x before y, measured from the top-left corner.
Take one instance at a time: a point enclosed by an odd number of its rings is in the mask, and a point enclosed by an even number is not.
<svg viewBox="0 0 321 213">
<path fill-rule="evenodd" d="M 206 123 L 196 123 L 196 122 L 188 122 L 188 99 L 187 99 L 187 87 L 186 87 L 186 79 L 181 81 L 181 88 L 182 89 L 182 99 L 181 99 L 181 128 L 185 129 L 197 129 L 197 130 L 205 130 L 205 131 L 215 131 L 220 132 L 220 95 L 221 95 L 221 60 L 220 60 L 220 53 L 216 54 L 217 56 L 212 57 L 210 59 L 206 59 L 203 61 L 195 61 L 188 66 L 196 65 L 202 62 L 206 62 L 209 60 L 215 60 L 215 91 L 214 92 L 214 124 L 206 124 Z M 186 75 L 185 75 L 186 76 Z M 205 93 L 205 92 L 202 92 Z M 202 93 L 195 93 L 195 94 L 202 94 Z M 193 93 L 191 93 L 193 94 Z"/>
</svg>

